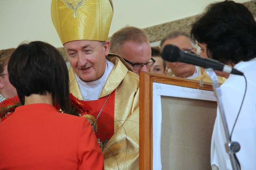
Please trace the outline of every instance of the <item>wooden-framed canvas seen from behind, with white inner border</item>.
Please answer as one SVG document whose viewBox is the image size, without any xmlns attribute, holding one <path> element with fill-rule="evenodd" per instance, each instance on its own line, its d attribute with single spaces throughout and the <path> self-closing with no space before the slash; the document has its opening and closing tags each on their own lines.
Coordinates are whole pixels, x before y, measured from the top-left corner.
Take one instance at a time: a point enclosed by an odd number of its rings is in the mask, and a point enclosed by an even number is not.
<svg viewBox="0 0 256 170">
<path fill-rule="evenodd" d="M 140 73 L 140 169 L 211 169 L 211 83 Z"/>
</svg>

